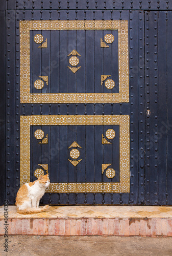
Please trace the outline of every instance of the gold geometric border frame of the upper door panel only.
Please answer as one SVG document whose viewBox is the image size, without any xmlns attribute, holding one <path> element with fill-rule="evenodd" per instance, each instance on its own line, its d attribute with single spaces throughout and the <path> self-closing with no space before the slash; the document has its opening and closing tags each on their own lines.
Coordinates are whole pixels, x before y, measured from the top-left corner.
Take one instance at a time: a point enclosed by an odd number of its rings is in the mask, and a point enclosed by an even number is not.
<svg viewBox="0 0 172 256">
<path fill-rule="evenodd" d="M 30 30 L 118 30 L 119 93 L 30 93 Z M 20 103 L 129 102 L 128 20 L 20 21 Z"/>
</svg>

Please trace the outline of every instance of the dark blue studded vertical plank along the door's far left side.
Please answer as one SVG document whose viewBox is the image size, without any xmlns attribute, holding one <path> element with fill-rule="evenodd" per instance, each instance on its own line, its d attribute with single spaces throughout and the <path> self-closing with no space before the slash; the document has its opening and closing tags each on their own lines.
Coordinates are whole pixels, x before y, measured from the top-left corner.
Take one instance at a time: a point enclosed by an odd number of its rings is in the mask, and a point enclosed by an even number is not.
<svg viewBox="0 0 172 256">
<path fill-rule="evenodd" d="M 15 202 L 15 11 L 6 12 L 6 200 L 9 204 Z M 10 36 L 8 36 L 10 34 Z M 18 112 L 17 112 L 18 113 Z M 4 172 L 5 170 L 3 170 Z M 4 203 L 4 202 L 3 202 Z"/>
</svg>

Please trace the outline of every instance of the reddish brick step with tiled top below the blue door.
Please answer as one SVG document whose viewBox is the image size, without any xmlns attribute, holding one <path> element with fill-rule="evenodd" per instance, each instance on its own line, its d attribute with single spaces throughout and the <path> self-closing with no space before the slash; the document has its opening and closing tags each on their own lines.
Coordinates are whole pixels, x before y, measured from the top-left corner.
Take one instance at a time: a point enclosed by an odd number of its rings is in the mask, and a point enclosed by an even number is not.
<svg viewBox="0 0 172 256">
<path fill-rule="evenodd" d="M 0 235 L 5 233 L 0 207 Z M 172 236 L 171 206 L 51 206 L 20 215 L 8 206 L 8 234 L 55 236 Z"/>
</svg>

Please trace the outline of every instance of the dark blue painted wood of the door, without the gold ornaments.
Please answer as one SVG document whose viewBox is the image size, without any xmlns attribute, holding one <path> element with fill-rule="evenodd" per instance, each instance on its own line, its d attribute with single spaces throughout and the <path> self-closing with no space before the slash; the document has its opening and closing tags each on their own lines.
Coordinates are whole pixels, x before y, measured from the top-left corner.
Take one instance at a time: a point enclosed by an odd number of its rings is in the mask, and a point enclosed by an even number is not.
<svg viewBox="0 0 172 256">
<path fill-rule="evenodd" d="M 171 141 L 170 141 L 170 37 L 172 8 L 171 3 L 147 0 L 131 3 L 113 1 L 32 1 L 7 2 L 8 9 L 18 9 L 7 12 L 10 17 L 10 28 L 7 28 L 7 72 L 10 69 L 10 91 L 7 91 L 7 171 L 9 179 L 7 193 L 10 203 L 14 203 L 15 190 L 19 184 L 19 115 L 125 115 L 130 113 L 131 129 L 131 192 L 128 194 L 79 193 L 79 194 L 46 194 L 41 203 L 51 204 L 172 204 L 171 200 Z M 26 10 L 23 10 L 23 6 Z M 20 10 L 19 10 L 20 9 Z M 95 11 L 94 11 L 95 9 Z M 97 10 L 96 10 L 97 9 Z M 139 10 L 140 9 L 140 10 Z M 168 14 L 162 9 L 167 10 Z M 77 12 L 76 12 L 77 10 Z M 127 10 L 127 11 L 126 11 Z M 137 11 L 138 10 L 138 11 Z M 143 19 L 143 11 L 145 12 Z M 152 11 L 151 11 L 152 10 Z M 157 12 L 157 10 L 159 10 Z M 24 12 L 23 12 L 24 11 Z M 67 13 L 68 11 L 68 13 Z M 41 13 L 42 12 L 42 13 Z M 157 14 L 155 14 L 155 12 Z M 11 16 L 10 16 L 11 15 Z M 15 20 L 16 18 L 16 26 Z M 17 35 L 19 20 L 39 19 L 128 19 L 129 20 L 129 50 L 130 50 L 130 104 L 19 104 L 19 44 Z M 148 20 L 147 20 L 148 19 Z M 8 24 L 8 19 L 7 19 Z M 145 26 L 143 26 L 145 24 Z M 12 32 L 11 32 L 11 28 Z M 156 28 L 156 29 L 155 29 Z M 9 32 L 9 31 L 10 32 Z M 10 33 L 10 36 L 8 36 Z M 33 41 L 37 33 L 42 33 L 48 39 L 46 49 L 38 49 Z M 115 40 L 110 48 L 100 48 L 100 38 L 106 33 L 112 33 Z M 48 75 L 48 86 L 44 83 L 42 93 L 76 93 L 76 92 L 109 92 L 101 86 L 101 75 L 111 69 L 118 90 L 118 57 L 117 31 L 34 31 L 30 33 L 31 49 L 31 92 L 38 93 L 34 81 L 38 75 Z M 143 38 L 144 37 L 144 38 Z M 10 39 L 9 39 L 10 38 Z M 11 39 L 12 38 L 12 39 Z M 16 40 L 12 44 L 13 38 Z M 10 41 L 10 44 L 8 44 Z M 145 48 L 144 48 L 145 45 Z M 114 47 L 113 47 L 114 46 Z M 70 51 L 76 49 L 81 56 L 79 66 L 82 68 L 73 74 L 68 68 Z M 18 51 L 18 52 L 17 52 Z M 33 54 L 32 54 L 33 53 Z M 145 53 L 145 56 L 143 56 Z M 110 57 L 109 57 L 110 56 Z M 145 60 L 144 60 L 145 57 Z M 11 60 L 14 60 L 11 62 Z M 157 59 L 157 61 L 155 61 Z M 8 62 L 10 61 L 10 68 Z M 145 68 L 143 63 L 145 62 Z M 15 65 L 13 64 L 15 63 Z M 167 68 L 166 68 L 167 64 Z M 42 68 L 41 68 L 42 67 Z M 38 74 L 39 73 L 39 74 Z M 16 75 L 16 76 L 15 76 Z M 144 82 L 145 78 L 145 82 Z M 9 80 L 10 79 L 10 80 Z M 15 84 L 15 87 L 13 86 Z M 144 88 L 145 86 L 145 88 Z M 9 84 L 7 83 L 6 89 Z M 145 95 L 144 95 L 145 93 Z M 15 97 L 14 97 L 15 95 Z M 10 96 L 10 98 L 8 98 Z M 145 97 L 145 98 L 144 98 Z M 130 106 L 129 106 L 130 105 Z M 10 110 L 10 111 L 9 111 Z M 146 111 L 151 115 L 147 116 Z M 19 115 L 17 114 L 19 113 Z M 145 118 L 145 119 L 144 119 Z M 15 120 L 15 125 L 14 125 Z M 168 125 L 168 126 L 167 126 Z M 48 133 L 48 144 L 39 145 L 34 137 L 35 129 Z M 112 145 L 102 145 L 102 134 L 113 128 L 116 137 Z M 48 163 L 52 182 L 110 182 L 105 173 L 102 175 L 102 162 L 112 159 L 112 167 L 119 178 L 119 156 L 117 126 L 34 126 L 31 127 L 31 180 L 34 180 L 34 170 L 38 163 Z M 15 135 L 15 136 L 14 136 Z M 46 135 L 46 134 L 45 134 Z M 145 138 L 145 140 L 144 140 Z M 80 148 L 82 161 L 74 167 L 68 162 L 68 146 L 76 140 Z M 9 142 L 10 143 L 9 143 Z M 109 148 L 107 150 L 107 148 Z M 46 154 L 46 156 L 45 156 Z M 12 156 L 12 157 L 11 157 Z M 10 160 L 9 160 L 10 158 Z M 41 162 L 39 162 L 41 161 Z M 145 163 L 145 164 L 144 164 Z M 15 167 L 14 167 L 15 166 Z M 111 166 L 110 166 L 111 167 Z M 15 175 L 12 169 L 15 168 Z M 145 183 L 145 184 L 144 184 Z"/>
</svg>

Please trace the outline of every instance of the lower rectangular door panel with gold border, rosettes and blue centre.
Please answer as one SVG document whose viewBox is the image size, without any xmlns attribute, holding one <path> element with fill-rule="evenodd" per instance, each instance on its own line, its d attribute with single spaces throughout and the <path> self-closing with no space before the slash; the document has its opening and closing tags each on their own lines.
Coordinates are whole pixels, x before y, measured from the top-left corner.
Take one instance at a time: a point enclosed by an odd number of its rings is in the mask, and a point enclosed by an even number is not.
<svg viewBox="0 0 172 256">
<path fill-rule="evenodd" d="M 20 185 L 48 172 L 47 193 L 129 193 L 129 132 L 129 115 L 21 116 Z"/>
</svg>

